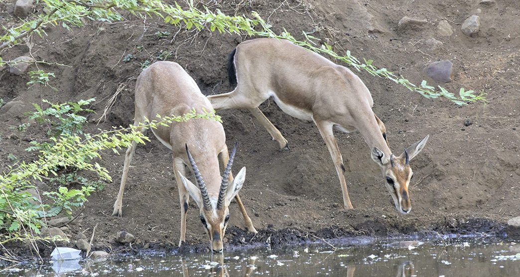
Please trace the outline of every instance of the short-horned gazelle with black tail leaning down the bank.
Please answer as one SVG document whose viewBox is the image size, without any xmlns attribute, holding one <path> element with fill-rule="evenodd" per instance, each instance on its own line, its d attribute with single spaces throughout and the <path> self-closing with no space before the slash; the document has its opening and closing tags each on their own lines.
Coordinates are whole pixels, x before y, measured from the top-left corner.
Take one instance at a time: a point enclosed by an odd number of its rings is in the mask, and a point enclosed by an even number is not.
<svg viewBox="0 0 520 277">
<path fill-rule="evenodd" d="M 383 171 L 395 207 L 401 213 L 410 212 L 408 185 L 413 173 L 409 161 L 423 149 L 428 136 L 394 156 L 385 126 L 372 111 L 370 91 L 352 71 L 289 41 L 258 38 L 242 42 L 231 52 L 228 77 L 236 88 L 209 96 L 213 108 L 249 109 L 280 149 L 289 149 L 287 140 L 258 109 L 262 102 L 272 97 L 285 113 L 316 124 L 340 179 L 345 208 L 351 209 L 352 203 L 333 128 L 346 133 L 359 130 Z"/>
</svg>

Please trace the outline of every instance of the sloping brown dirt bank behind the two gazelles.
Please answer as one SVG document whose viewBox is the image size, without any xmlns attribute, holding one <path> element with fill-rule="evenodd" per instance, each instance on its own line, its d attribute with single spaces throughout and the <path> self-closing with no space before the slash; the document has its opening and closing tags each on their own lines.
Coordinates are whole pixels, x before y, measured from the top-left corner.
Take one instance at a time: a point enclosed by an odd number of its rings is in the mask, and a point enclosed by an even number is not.
<svg viewBox="0 0 520 277">
<path fill-rule="evenodd" d="M 520 214 L 520 9 L 515 0 L 497 1 L 491 6 L 478 0 L 437 1 L 361 0 L 265 0 L 231 1 L 213 6 L 226 14 L 258 11 L 274 25 L 297 37 L 302 31 L 330 40 L 337 50 L 373 59 L 406 76 L 412 83 L 426 78 L 425 64 L 448 59 L 453 63 L 452 82 L 446 88 L 484 90 L 488 103 L 459 107 L 444 99 L 428 100 L 404 87 L 359 73 L 372 93 L 374 112 L 385 123 L 392 149 L 401 149 L 430 134 L 426 148 L 412 162 L 414 181 L 410 195 L 412 212 L 398 214 L 384 188 L 379 167 L 370 159 L 369 149 L 359 134 L 337 133 L 344 157 L 345 178 L 354 210 L 342 210 L 339 181 L 331 158 L 317 128 L 283 112 L 272 101 L 261 106 L 266 116 L 289 140 L 291 151 L 279 152 L 276 142 L 246 111 L 219 113 L 223 117 L 228 145 L 240 141 L 235 168 L 246 166 L 248 176 L 241 197 L 259 234 L 244 234 L 239 210 L 230 207 L 228 247 L 243 243 L 273 244 L 299 242 L 313 233 L 320 238 L 344 235 L 396 236 L 413 233 L 490 232 L 501 234 L 502 225 Z M 212 2 L 213 3 L 213 2 Z M 240 3 L 239 6 L 237 4 Z M 7 4 L 0 3 L 2 10 Z M 461 23 L 469 16 L 480 17 L 480 32 L 468 37 Z M 418 30 L 398 30 L 404 17 L 426 20 Z M 0 23 L 14 19 L 5 16 Z M 438 22 L 447 20 L 453 34 L 440 35 Z M 164 38 L 156 32 L 169 32 Z M 41 138 L 37 127 L 18 139 L 9 126 L 23 122 L 30 103 L 96 97 L 88 131 L 129 125 L 133 122 L 133 88 L 141 63 L 157 60 L 161 51 L 171 51 L 166 60 L 176 61 L 190 73 L 206 95 L 229 91 L 225 63 L 228 53 L 241 41 L 236 35 L 204 31 L 178 32 L 161 22 L 142 22 L 127 15 L 113 24 L 89 24 L 73 32 L 48 28 L 48 36 L 34 37 L 31 48 L 17 46 L 5 60 L 26 54 L 37 60 L 70 65 L 39 65 L 56 73 L 50 88 L 27 89 L 27 76 L 2 72 L 0 98 L 16 100 L 10 109 L 0 109 L 0 163 L 9 154 L 28 159 L 30 139 Z M 428 39 L 440 46 L 432 49 Z M 430 41 L 431 42 L 431 41 Z M 134 55 L 124 62 L 123 57 Z M 120 88 L 118 90 L 118 88 Z M 95 125 L 109 99 L 119 91 L 105 122 Z M 471 125 L 465 126 L 469 119 Z M 133 233 L 135 248 L 176 245 L 179 237 L 180 207 L 172 171 L 171 155 L 155 138 L 138 147 L 130 168 L 123 200 L 123 217 L 112 217 L 112 205 L 119 189 L 124 156 L 106 153 L 102 164 L 114 182 L 90 197 L 82 215 L 66 226 L 71 238 L 78 232 L 88 236 L 96 223 L 94 249 L 125 248 L 114 242 L 117 231 Z M 198 209 L 190 203 L 187 243 L 205 245 Z M 273 234 L 281 235 L 273 235 Z M 243 238 L 243 239 L 242 239 Z M 315 238 L 314 238 L 315 239 Z M 204 246 L 205 247 L 205 246 Z M 201 246 L 203 248 L 203 246 Z"/>
</svg>

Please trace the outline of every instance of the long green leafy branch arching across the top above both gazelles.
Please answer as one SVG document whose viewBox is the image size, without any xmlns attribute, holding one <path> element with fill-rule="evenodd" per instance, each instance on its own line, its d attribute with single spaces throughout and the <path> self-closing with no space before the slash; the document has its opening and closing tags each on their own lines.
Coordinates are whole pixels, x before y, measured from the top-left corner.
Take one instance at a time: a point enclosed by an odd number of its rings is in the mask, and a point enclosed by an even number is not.
<svg viewBox="0 0 520 277">
<path fill-rule="evenodd" d="M 64 0 L 43 0 L 43 3 L 50 12 L 48 14 L 43 13 L 37 15 L 18 27 L 8 29 L 6 34 L 0 36 L 0 42 L 4 42 L 3 45 L 0 45 L 0 51 L 19 43 L 20 38 L 29 33 L 36 32 L 38 35 L 43 35 L 44 31 L 42 28 L 51 23 L 57 24 L 57 22 L 61 22 L 62 26 L 68 29 L 69 25 L 84 25 L 83 18 L 101 22 L 113 22 L 123 19 L 119 11 L 128 11 L 133 15 L 141 17 L 157 16 L 164 19 L 166 23 L 174 25 L 183 24 L 188 30 L 194 28 L 200 31 L 204 28 L 208 28 L 211 32 L 218 31 L 219 33 L 287 39 L 296 45 L 342 61 L 358 71 L 364 70 L 373 76 L 391 80 L 426 98 L 445 97 L 459 105 L 485 100 L 484 93 L 463 93 L 462 95 L 459 94 L 459 96 L 455 96 L 454 94 L 447 93 L 447 90 L 444 88 L 436 90 L 435 87 L 426 84 L 416 86 L 406 78 L 400 77 L 386 68 L 376 68 L 373 65 L 374 62 L 370 59 L 363 59 L 363 62 L 360 62 L 359 59 L 350 54 L 350 51 L 346 51 L 345 55 L 336 54 L 331 45 L 323 43 L 321 39 L 305 32 L 302 33 L 305 38 L 303 40 L 296 39 L 287 31 L 277 34 L 272 31 L 271 25 L 265 22 L 257 12 L 254 11 L 251 12 L 251 18 L 245 16 L 227 16 L 220 10 L 210 11 L 204 8 L 204 10 L 201 11 L 193 7 L 191 2 L 189 7 L 184 9 L 177 3 L 170 5 L 161 0 L 93 0 L 88 2 L 81 0 L 70 2 Z M 158 39 L 161 39 L 170 35 L 170 32 L 158 31 L 154 33 L 154 35 L 157 36 Z M 0 63 L 2 63 L 1 60 Z M 147 68 L 149 64 L 150 61 L 142 62 L 141 69 Z"/>
</svg>

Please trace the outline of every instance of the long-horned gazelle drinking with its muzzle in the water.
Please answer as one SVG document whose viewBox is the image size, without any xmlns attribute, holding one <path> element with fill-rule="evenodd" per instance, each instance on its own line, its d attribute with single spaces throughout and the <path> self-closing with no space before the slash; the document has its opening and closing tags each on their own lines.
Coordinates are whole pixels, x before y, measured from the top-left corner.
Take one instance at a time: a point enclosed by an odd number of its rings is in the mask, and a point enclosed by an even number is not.
<svg viewBox="0 0 520 277">
<path fill-rule="evenodd" d="M 135 89 L 134 126 L 144 123 L 145 118 L 153 120 L 157 115 L 183 115 L 192 109 L 203 113 L 212 111 L 213 107 L 200 92 L 195 81 L 179 64 L 166 61 L 155 62 L 139 74 Z M 143 128 L 139 131 L 146 132 Z M 152 132 L 164 146 L 172 150 L 173 169 L 181 206 L 179 246 L 186 241 L 186 212 L 190 196 L 200 208 L 200 219 L 210 237 L 213 252 L 223 250 L 222 239 L 229 220 L 228 206 L 233 197 L 240 207 L 246 229 L 256 233 L 238 196 L 245 180 L 245 167 L 233 179 L 231 165 L 236 144 L 229 156 L 222 124 L 197 118 L 160 126 L 152 129 Z M 114 203 L 112 214 L 114 216 L 122 215 L 128 167 L 132 162 L 136 146 L 137 143 L 132 142 L 126 150 L 121 186 L 118 199 Z M 195 160 L 199 161 L 198 166 Z M 220 177 L 219 160 L 223 166 L 227 163 L 222 177 Z M 184 177 L 185 166 L 193 170 L 198 186 L 194 186 Z M 229 186 L 228 182 L 230 182 Z"/>
</svg>

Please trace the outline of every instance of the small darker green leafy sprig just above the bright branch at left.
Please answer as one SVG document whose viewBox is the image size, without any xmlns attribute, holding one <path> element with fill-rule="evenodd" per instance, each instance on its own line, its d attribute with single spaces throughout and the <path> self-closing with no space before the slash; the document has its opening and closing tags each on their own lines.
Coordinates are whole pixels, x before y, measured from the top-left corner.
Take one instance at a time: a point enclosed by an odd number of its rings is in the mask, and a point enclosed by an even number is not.
<svg viewBox="0 0 520 277">
<path fill-rule="evenodd" d="M 33 104 L 36 111 L 27 112 L 25 115 L 30 120 L 35 120 L 39 124 L 48 126 L 47 134 L 49 136 L 82 134 L 87 118 L 81 115 L 81 113 L 94 112 L 93 110 L 83 108 L 83 106 L 95 100 L 96 98 L 90 98 L 77 102 L 69 101 L 67 103 L 53 104 L 43 99 L 42 102 L 50 104 L 49 108 L 44 110 L 40 105 Z"/>
</svg>

